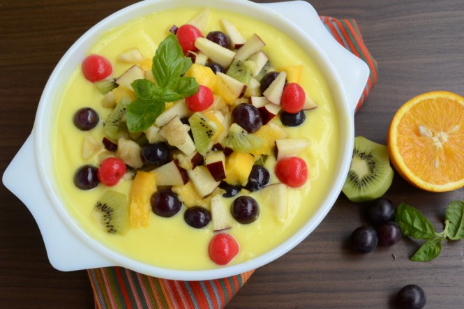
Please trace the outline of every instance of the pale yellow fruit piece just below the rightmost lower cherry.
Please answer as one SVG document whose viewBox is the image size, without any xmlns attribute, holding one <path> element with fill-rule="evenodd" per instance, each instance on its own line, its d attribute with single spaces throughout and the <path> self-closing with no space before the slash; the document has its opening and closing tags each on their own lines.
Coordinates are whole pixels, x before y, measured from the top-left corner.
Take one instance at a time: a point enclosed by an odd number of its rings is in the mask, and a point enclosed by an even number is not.
<svg viewBox="0 0 464 309">
<path fill-rule="evenodd" d="M 283 183 L 274 183 L 260 190 L 263 205 L 269 206 L 277 220 L 284 221 L 288 215 L 287 195 L 289 188 Z"/>
</svg>

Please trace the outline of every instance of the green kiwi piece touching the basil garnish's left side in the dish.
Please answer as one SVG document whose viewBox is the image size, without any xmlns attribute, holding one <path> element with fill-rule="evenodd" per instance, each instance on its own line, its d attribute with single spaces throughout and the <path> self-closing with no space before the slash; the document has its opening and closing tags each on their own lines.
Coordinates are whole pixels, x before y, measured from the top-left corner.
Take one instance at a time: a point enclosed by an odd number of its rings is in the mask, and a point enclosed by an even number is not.
<svg viewBox="0 0 464 309">
<path fill-rule="evenodd" d="M 111 140 L 117 141 L 120 138 L 128 138 L 129 131 L 126 124 L 126 108 L 130 103 L 130 98 L 124 97 L 114 107 L 113 112 L 108 116 L 105 121 L 105 128 L 103 129 L 105 135 L 110 137 Z"/>
</svg>

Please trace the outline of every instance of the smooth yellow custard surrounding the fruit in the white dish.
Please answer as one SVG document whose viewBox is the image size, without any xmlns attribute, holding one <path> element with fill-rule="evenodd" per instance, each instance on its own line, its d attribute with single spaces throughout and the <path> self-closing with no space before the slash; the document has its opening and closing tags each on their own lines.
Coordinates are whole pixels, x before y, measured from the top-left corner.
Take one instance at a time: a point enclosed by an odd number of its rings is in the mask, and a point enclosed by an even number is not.
<svg viewBox="0 0 464 309">
<path fill-rule="evenodd" d="M 147 59 L 151 59 L 172 24 L 180 26 L 200 13 L 200 10 L 200 8 L 179 8 L 137 18 L 105 33 L 88 53 L 100 54 L 109 59 L 114 70 L 112 77 L 117 77 L 132 66 L 118 61 L 119 54 L 137 47 Z M 308 163 L 309 178 L 303 187 L 289 191 L 287 218 L 278 220 L 258 191 L 250 195 L 260 204 L 259 218 L 248 225 L 234 222 L 234 226 L 225 231 L 232 234 L 239 243 L 239 255 L 230 262 L 230 264 L 238 264 L 267 253 L 283 243 L 317 211 L 329 192 L 331 180 L 336 176 L 334 169 L 340 153 L 338 148 L 340 128 L 336 106 L 327 81 L 317 63 L 297 43 L 271 25 L 258 22 L 251 17 L 223 10 L 210 11 L 211 17 L 204 34 L 223 30 L 220 18 L 234 22 L 245 38 L 257 33 L 266 43 L 263 50 L 269 56 L 274 68 L 285 66 L 303 68 L 300 83 L 318 104 L 315 110 L 306 112 L 306 121 L 303 125 L 286 128 L 289 137 L 306 138 L 310 141 L 310 147 L 299 154 Z M 52 130 L 54 174 L 57 177 L 59 196 L 63 199 L 63 204 L 66 204 L 70 215 L 93 239 L 140 262 L 179 270 L 218 267 L 209 259 L 207 249 L 211 237 L 215 234 L 211 224 L 203 229 L 188 226 L 183 216 L 185 206 L 172 218 L 161 218 L 151 213 L 148 227 L 133 228 L 124 235 L 107 234 L 91 220 L 91 210 L 107 187 L 100 184 L 92 190 L 80 190 L 73 183 L 73 175 L 82 165 L 98 166 L 98 156 L 84 160 L 81 147 L 87 135 L 101 141 L 103 126 L 83 132 L 75 128 L 72 119 L 81 107 L 92 107 L 100 115 L 100 121 L 104 121 L 112 110 L 102 107 L 102 98 L 103 95 L 96 86 L 84 79 L 79 67 L 75 69 L 57 102 L 57 115 L 54 117 L 56 120 Z M 273 121 L 278 123 L 278 117 Z M 272 174 L 271 182 L 275 183 L 272 158 L 268 160 L 267 166 Z M 131 184 L 131 180 L 122 180 L 117 186 L 112 187 L 112 190 L 128 195 Z M 230 205 L 233 199 L 234 197 L 224 200 Z"/>
</svg>

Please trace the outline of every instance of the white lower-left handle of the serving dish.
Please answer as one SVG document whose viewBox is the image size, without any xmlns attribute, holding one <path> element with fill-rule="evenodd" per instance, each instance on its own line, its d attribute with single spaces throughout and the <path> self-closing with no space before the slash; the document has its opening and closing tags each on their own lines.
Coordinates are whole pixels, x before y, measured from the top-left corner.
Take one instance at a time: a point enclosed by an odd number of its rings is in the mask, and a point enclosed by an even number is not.
<svg viewBox="0 0 464 309">
<path fill-rule="evenodd" d="M 96 254 L 70 232 L 54 211 L 54 206 L 40 183 L 34 144 L 31 134 L 6 168 L 2 181 L 31 211 L 45 242 L 50 264 L 59 271 L 112 266 L 114 263 Z M 26 175 L 27 181 L 24 179 Z"/>
</svg>

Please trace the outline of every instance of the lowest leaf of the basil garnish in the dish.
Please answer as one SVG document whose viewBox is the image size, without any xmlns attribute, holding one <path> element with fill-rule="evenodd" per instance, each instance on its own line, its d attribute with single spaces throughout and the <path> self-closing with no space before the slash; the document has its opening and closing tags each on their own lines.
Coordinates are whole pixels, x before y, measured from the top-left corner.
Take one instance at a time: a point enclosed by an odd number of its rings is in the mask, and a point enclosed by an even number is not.
<svg viewBox="0 0 464 309">
<path fill-rule="evenodd" d="M 165 110 L 163 101 L 137 99 L 126 110 L 127 127 L 130 132 L 140 132 L 149 128 Z"/>
</svg>

